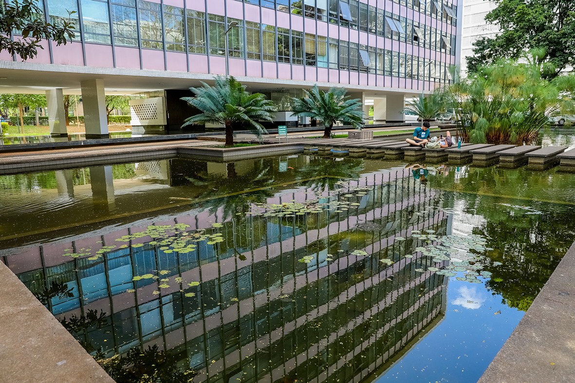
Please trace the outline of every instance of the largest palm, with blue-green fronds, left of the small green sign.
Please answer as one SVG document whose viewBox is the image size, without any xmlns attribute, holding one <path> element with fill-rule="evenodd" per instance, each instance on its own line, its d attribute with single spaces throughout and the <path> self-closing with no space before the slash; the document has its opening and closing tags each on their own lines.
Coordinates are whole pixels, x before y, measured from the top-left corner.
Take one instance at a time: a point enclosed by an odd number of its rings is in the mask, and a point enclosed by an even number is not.
<svg viewBox="0 0 575 383">
<path fill-rule="evenodd" d="M 214 86 L 202 82 L 202 87 L 190 88 L 194 97 L 182 97 L 183 101 L 200 110 L 200 114 L 186 118 L 182 125 L 224 124 L 225 146 L 233 145 L 233 128 L 241 125 L 250 129 L 259 139 L 266 129 L 256 120 L 273 121 L 273 102 L 261 93 L 250 94 L 246 87 L 233 76 L 216 77 Z"/>
</svg>

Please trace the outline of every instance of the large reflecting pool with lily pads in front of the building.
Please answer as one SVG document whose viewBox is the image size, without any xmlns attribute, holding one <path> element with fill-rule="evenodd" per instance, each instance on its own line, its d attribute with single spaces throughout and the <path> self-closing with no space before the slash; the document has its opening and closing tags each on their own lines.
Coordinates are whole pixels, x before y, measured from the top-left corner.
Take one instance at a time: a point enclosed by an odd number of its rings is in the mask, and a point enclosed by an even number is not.
<svg viewBox="0 0 575 383">
<path fill-rule="evenodd" d="M 98 358 L 207 382 L 477 381 L 575 240 L 555 169 L 293 155 L 0 177 L 0 256 Z"/>
</svg>

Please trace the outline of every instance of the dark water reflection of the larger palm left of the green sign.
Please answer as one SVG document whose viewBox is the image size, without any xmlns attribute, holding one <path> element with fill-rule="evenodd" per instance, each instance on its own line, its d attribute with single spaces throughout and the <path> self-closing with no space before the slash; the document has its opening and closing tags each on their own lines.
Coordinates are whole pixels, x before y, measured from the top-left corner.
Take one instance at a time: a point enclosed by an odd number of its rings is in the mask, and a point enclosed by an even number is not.
<svg viewBox="0 0 575 383">
<path fill-rule="evenodd" d="M 201 207 L 208 209 L 210 214 L 222 209 L 223 220 L 237 213 L 245 215 L 252 204 L 265 203 L 267 198 L 274 195 L 269 189 L 274 183 L 274 173 L 263 160 L 254 162 L 254 167 L 241 176 L 237 174 L 235 163 L 228 163 L 226 173 L 200 173 L 188 178 L 194 185 L 204 186 L 205 191 L 196 197 L 206 199 L 201 202 Z"/>
</svg>

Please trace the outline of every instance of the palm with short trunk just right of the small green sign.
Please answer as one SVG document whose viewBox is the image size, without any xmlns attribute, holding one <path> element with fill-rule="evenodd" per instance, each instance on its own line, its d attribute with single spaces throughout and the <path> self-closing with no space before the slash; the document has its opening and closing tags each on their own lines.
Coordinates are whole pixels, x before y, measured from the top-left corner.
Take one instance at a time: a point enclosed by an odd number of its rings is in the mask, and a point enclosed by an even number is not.
<svg viewBox="0 0 575 383">
<path fill-rule="evenodd" d="M 331 87 L 325 92 L 314 85 L 309 91 L 304 91 L 306 97 L 293 99 L 292 113 L 323 121 L 324 138 L 329 138 L 336 121 L 349 124 L 355 129 L 363 127 L 363 105 L 359 99 L 346 96 L 345 88 Z"/>
</svg>

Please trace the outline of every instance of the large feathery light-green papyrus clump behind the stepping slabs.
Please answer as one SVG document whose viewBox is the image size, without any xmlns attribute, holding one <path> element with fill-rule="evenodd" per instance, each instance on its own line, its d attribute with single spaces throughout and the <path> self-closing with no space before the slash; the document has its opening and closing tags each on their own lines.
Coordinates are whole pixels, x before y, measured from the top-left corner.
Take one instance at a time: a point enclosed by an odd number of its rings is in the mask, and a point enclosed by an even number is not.
<svg viewBox="0 0 575 383">
<path fill-rule="evenodd" d="M 542 79 L 545 66 L 537 57 L 532 52 L 530 63 L 500 60 L 451 87 L 453 107 L 461 109 L 458 133 L 463 140 L 530 144 L 550 114 L 573 109 L 569 91 L 575 76 Z"/>
</svg>

